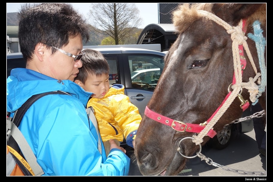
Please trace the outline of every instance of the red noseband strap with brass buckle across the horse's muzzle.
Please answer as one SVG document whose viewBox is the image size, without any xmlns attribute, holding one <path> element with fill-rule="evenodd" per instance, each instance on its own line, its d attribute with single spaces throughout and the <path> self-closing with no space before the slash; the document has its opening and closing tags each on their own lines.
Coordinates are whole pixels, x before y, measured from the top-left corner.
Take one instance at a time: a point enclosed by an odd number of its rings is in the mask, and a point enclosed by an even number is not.
<svg viewBox="0 0 273 182">
<path fill-rule="evenodd" d="M 205 126 L 199 125 L 199 124 L 191 124 L 191 123 L 183 123 L 182 121 L 176 121 L 171 118 L 168 118 L 166 116 L 162 116 L 156 112 L 153 112 L 150 110 L 147 106 L 145 109 L 144 114 L 155 121 L 158 121 L 159 123 L 165 124 L 169 127 L 172 127 L 174 130 L 179 132 L 193 132 L 193 133 L 200 133 Z M 207 134 L 210 138 L 213 138 L 216 135 L 216 132 L 214 130 L 209 130 L 209 133 Z"/>
</svg>

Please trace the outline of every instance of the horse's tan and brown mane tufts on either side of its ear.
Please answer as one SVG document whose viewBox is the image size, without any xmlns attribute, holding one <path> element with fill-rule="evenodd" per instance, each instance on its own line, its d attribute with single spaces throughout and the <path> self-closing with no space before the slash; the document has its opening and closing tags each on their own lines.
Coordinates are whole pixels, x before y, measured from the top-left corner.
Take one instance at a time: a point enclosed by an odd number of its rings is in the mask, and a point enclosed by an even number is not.
<svg viewBox="0 0 273 182">
<path fill-rule="evenodd" d="M 213 13 L 213 3 L 184 3 L 180 4 L 175 11 L 172 12 L 172 21 L 174 27 L 176 27 L 176 33 L 180 34 L 184 32 L 194 21 L 202 18 L 202 15 L 197 13 L 197 10 L 205 10 L 210 13 Z M 236 7 L 236 3 L 216 3 L 219 9 L 225 10 L 230 7 Z M 238 8 L 239 9 L 239 8 Z M 255 10 L 251 16 L 247 17 L 245 26 L 247 31 L 252 27 L 252 24 L 255 20 L 259 20 L 261 25 L 266 27 L 266 3 L 263 3 L 258 9 Z"/>
</svg>

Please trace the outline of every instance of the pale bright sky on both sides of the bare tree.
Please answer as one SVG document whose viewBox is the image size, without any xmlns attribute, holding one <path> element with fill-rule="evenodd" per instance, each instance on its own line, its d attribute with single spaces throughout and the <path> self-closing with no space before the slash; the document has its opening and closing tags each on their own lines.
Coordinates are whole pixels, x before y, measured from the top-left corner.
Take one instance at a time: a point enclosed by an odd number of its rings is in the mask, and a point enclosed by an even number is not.
<svg viewBox="0 0 273 182">
<path fill-rule="evenodd" d="M 22 3 L 6 3 L 7 13 L 18 12 L 20 4 Z M 91 3 L 70 3 L 76 9 L 80 10 L 86 18 L 87 14 L 91 9 Z M 139 15 L 142 18 L 142 24 L 138 28 L 145 28 L 147 25 L 152 23 L 158 23 L 158 3 L 135 3 L 138 7 Z"/>
</svg>

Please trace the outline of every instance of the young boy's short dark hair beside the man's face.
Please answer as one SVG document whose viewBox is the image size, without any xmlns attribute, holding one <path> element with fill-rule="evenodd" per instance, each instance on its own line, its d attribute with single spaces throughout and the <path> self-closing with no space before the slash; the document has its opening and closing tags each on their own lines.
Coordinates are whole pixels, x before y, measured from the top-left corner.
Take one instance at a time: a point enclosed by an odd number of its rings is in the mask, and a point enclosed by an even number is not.
<svg viewBox="0 0 273 182">
<path fill-rule="evenodd" d="M 81 59 L 82 67 L 79 68 L 79 74 L 74 80 L 79 80 L 85 84 L 89 74 L 96 76 L 109 74 L 109 64 L 101 52 L 94 49 L 84 49 L 82 52 L 85 52 Z"/>
</svg>

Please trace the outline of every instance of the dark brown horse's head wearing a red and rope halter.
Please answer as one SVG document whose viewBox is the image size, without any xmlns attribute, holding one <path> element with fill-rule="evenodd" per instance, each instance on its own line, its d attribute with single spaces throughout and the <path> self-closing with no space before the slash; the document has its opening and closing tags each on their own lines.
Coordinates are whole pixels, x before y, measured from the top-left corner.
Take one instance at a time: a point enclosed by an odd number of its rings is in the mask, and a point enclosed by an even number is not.
<svg viewBox="0 0 273 182">
<path fill-rule="evenodd" d="M 266 4 L 182 4 L 172 17 L 179 36 L 135 140 L 142 175 L 178 175 L 249 105 L 266 111 Z"/>
</svg>

